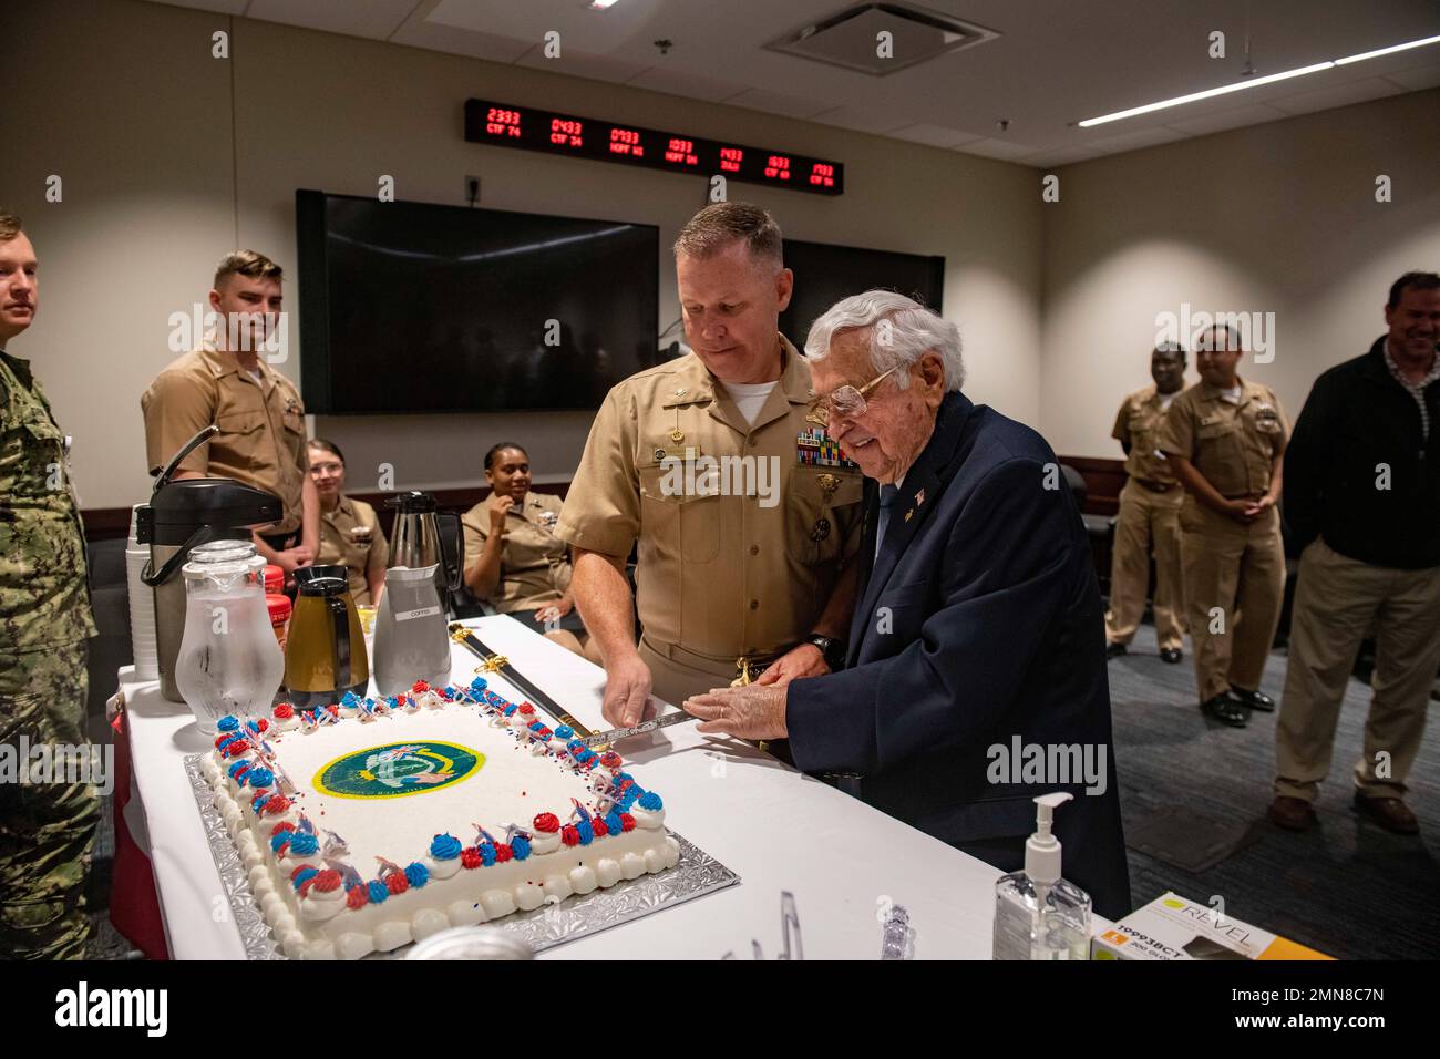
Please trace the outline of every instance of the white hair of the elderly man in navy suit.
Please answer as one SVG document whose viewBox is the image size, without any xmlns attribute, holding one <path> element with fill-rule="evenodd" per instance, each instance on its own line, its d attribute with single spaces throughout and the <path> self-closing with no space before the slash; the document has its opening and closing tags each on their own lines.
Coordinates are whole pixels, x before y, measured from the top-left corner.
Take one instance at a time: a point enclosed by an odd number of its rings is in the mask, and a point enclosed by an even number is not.
<svg viewBox="0 0 1440 1059">
<path fill-rule="evenodd" d="M 913 298 L 894 291 L 865 291 L 852 294 L 827 308 L 811 324 L 805 339 L 805 359 L 824 360 L 829 343 L 838 331 L 870 330 L 870 362 L 876 375 L 891 367 L 913 365 L 929 350 L 935 350 L 945 365 L 945 389 L 958 390 L 965 383 L 965 360 L 960 357 L 960 329 Z M 891 376 L 900 389 L 910 386 L 910 376 Z"/>
</svg>

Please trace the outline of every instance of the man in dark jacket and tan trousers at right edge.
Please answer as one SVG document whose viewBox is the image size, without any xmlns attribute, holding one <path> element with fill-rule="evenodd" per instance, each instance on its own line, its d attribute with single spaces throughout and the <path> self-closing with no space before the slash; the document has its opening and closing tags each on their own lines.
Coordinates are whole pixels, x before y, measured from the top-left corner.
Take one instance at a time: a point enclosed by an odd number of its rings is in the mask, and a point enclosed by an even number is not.
<svg viewBox="0 0 1440 1059">
<path fill-rule="evenodd" d="M 1361 638 L 1375 628 L 1355 807 L 1398 834 L 1440 667 L 1440 275 L 1390 288 L 1390 333 L 1315 382 L 1284 454 L 1284 517 L 1299 545 L 1290 664 L 1270 818 L 1303 831 L 1331 767 Z"/>
</svg>

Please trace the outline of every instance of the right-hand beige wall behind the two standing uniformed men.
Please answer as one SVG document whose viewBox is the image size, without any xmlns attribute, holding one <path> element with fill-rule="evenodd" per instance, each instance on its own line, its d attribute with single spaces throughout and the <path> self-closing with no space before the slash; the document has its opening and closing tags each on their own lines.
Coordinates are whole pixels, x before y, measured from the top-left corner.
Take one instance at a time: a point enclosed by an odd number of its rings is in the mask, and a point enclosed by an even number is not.
<svg viewBox="0 0 1440 1059">
<path fill-rule="evenodd" d="M 1110 426 L 1149 382 L 1158 313 L 1273 311 L 1274 360 L 1240 373 L 1293 421 L 1315 376 L 1384 333 L 1390 284 L 1440 269 L 1440 89 L 1057 173 L 1040 424 L 1058 452 L 1120 457 Z M 1375 202 L 1378 174 L 1390 203 Z"/>
</svg>

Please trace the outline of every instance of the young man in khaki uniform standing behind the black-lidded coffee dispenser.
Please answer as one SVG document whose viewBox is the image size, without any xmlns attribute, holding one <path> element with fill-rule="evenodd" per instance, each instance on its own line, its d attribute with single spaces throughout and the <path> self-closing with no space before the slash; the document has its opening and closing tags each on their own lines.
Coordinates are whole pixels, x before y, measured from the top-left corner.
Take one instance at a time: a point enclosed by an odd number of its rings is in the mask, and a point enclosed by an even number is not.
<svg viewBox="0 0 1440 1059">
<path fill-rule="evenodd" d="M 197 431 L 220 428 L 174 477 L 235 478 L 278 496 L 282 517 L 255 535 L 255 546 L 288 578 L 320 550 L 320 497 L 308 473 L 300 390 L 259 356 L 278 326 L 282 281 L 281 267 L 265 255 L 228 254 L 210 291 L 220 326 L 154 377 L 140 408 L 151 474 Z"/>
</svg>

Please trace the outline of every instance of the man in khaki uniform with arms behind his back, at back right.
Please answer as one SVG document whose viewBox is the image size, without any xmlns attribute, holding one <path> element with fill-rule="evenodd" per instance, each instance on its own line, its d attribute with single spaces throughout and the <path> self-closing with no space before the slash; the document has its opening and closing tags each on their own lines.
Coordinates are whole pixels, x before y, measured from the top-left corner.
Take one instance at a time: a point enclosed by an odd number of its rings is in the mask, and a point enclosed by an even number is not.
<svg viewBox="0 0 1440 1059">
<path fill-rule="evenodd" d="M 1185 386 L 1185 350 L 1175 343 L 1151 353 L 1155 385 L 1125 399 L 1110 437 L 1125 450 L 1129 481 L 1120 490 L 1110 558 L 1110 609 L 1104 615 L 1106 656 L 1125 654 L 1135 638 L 1149 595 L 1155 555 L 1155 635 L 1161 660 L 1171 664 L 1185 645 L 1185 594 L 1179 568 L 1179 506 L 1185 490 L 1156 448 L 1161 422 Z"/>
</svg>

